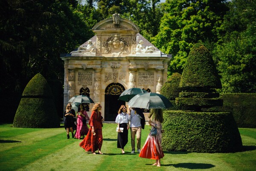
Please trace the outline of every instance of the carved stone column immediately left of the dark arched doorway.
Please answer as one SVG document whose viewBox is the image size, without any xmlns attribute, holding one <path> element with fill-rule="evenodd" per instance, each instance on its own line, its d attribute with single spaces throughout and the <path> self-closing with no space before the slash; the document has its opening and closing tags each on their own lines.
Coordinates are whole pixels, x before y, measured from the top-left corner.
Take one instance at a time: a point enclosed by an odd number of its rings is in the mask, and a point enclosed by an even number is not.
<svg viewBox="0 0 256 171">
<path fill-rule="evenodd" d="M 93 93 L 93 101 L 95 103 L 100 103 L 101 101 L 101 83 L 100 83 L 100 72 L 101 68 L 96 68 L 95 70 L 95 75 L 94 75 L 94 93 Z"/>
</svg>

